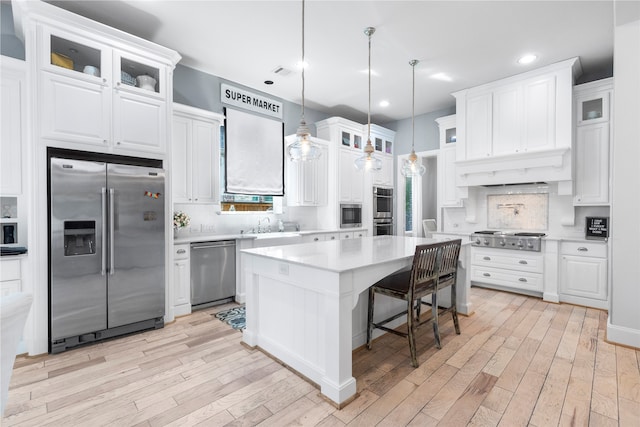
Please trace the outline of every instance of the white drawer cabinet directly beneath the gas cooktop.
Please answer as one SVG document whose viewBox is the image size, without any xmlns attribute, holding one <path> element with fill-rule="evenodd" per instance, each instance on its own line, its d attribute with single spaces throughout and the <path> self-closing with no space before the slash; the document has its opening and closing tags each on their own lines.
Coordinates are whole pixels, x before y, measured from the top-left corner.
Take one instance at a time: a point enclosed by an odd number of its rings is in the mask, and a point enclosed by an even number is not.
<svg viewBox="0 0 640 427">
<path fill-rule="evenodd" d="M 471 248 L 471 280 L 530 295 L 543 291 L 544 258 L 540 252 Z"/>
</svg>

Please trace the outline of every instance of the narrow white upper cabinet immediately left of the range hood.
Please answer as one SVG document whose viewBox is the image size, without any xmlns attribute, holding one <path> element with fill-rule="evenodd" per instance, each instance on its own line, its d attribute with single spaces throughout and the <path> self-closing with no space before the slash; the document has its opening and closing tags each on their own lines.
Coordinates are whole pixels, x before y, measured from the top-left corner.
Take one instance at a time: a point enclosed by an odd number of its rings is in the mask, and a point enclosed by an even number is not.
<svg viewBox="0 0 640 427">
<path fill-rule="evenodd" d="M 438 153 L 438 206 L 461 207 L 462 198 L 456 186 L 456 115 L 436 119 L 440 130 Z"/>
</svg>

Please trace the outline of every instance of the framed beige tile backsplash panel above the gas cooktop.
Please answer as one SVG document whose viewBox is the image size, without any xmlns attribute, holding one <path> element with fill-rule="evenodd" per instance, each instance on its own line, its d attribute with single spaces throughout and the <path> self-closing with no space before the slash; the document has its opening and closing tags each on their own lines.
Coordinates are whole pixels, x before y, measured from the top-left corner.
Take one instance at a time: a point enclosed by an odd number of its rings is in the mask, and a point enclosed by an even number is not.
<svg viewBox="0 0 640 427">
<path fill-rule="evenodd" d="M 546 230 L 549 194 L 488 194 L 487 226 L 499 230 Z"/>
</svg>

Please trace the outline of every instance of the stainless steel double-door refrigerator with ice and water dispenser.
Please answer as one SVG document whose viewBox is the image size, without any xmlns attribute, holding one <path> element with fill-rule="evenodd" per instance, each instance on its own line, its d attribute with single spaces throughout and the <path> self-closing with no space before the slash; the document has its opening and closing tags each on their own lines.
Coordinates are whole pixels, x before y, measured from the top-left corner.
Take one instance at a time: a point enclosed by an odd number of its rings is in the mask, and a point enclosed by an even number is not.
<svg viewBox="0 0 640 427">
<path fill-rule="evenodd" d="M 50 351 L 164 326 L 157 167 L 50 156 Z"/>
</svg>

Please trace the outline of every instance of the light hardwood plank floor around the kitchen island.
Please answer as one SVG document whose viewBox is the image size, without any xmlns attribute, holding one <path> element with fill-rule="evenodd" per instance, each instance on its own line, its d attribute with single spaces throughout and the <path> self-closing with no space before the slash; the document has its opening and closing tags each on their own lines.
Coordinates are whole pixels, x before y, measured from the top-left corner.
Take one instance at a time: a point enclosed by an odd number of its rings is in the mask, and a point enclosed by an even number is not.
<svg viewBox="0 0 640 427">
<path fill-rule="evenodd" d="M 83 426 L 634 426 L 640 351 L 604 341 L 606 312 L 472 288 L 476 312 L 430 327 L 413 369 L 391 334 L 354 351 L 358 397 L 342 410 L 217 320 L 59 355 L 19 357 L 0 424 Z"/>
</svg>

